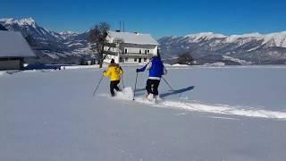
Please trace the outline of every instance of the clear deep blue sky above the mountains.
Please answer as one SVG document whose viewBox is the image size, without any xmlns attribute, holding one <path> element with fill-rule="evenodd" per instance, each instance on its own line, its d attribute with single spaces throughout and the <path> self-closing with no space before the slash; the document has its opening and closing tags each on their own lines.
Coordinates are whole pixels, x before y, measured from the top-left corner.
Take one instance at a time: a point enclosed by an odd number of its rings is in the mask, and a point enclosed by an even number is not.
<svg viewBox="0 0 286 161">
<path fill-rule="evenodd" d="M 86 31 L 99 21 L 156 38 L 213 31 L 224 35 L 286 30 L 283 0 L 1 0 L 0 17 L 32 17 L 49 30 Z"/>
</svg>

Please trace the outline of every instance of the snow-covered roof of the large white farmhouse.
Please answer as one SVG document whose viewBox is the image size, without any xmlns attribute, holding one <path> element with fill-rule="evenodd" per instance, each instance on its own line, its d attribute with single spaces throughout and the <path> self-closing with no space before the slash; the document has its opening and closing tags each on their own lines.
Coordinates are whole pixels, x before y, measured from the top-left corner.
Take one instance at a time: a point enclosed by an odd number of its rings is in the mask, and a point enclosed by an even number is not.
<svg viewBox="0 0 286 161">
<path fill-rule="evenodd" d="M 113 39 L 122 39 L 124 43 L 128 44 L 159 45 L 150 34 L 109 31 L 109 36 Z"/>
</svg>

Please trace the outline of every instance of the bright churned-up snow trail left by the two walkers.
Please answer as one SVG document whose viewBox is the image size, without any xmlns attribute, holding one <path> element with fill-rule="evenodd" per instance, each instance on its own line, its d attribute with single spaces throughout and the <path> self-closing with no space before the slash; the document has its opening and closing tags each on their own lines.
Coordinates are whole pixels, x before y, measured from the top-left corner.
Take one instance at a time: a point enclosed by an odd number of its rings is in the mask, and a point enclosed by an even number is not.
<svg viewBox="0 0 286 161">
<path fill-rule="evenodd" d="M 100 94 L 98 96 L 109 97 L 108 94 Z M 118 92 L 114 99 L 118 100 L 129 100 L 132 101 L 133 93 L 130 87 L 123 89 L 122 92 Z M 228 115 L 240 115 L 248 117 L 260 117 L 260 118 L 269 118 L 269 119 L 280 119 L 286 121 L 286 113 L 281 111 L 270 111 L 263 110 L 253 107 L 246 106 L 228 106 L 228 105 L 207 105 L 203 103 L 198 103 L 197 101 L 192 100 L 158 100 L 157 103 L 150 102 L 144 97 L 135 97 L 135 102 L 144 104 L 147 106 L 156 106 L 156 107 L 166 107 L 172 109 L 181 109 L 192 112 L 201 112 L 201 113 L 212 113 L 212 114 L 228 114 Z"/>
</svg>

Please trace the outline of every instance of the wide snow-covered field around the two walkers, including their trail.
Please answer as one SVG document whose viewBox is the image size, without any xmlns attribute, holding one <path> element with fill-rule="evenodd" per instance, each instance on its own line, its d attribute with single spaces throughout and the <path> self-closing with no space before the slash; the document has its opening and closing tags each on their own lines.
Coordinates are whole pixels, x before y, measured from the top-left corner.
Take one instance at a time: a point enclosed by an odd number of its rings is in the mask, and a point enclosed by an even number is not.
<svg viewBox="0 0 286 161">
<path fill-rule="evenodd" d="M 157 104 L 123 69 L 115 98 L 97 68 L 0 72 L 0 160 L 286 158 L 286 66 L 168 66 Z"/>
</svg>

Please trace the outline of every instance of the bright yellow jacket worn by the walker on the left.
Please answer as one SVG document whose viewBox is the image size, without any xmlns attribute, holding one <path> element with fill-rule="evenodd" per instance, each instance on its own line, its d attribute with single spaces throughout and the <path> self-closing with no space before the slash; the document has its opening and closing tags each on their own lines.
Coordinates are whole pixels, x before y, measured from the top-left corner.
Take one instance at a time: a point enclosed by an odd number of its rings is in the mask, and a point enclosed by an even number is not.
<svg viewBox="0 0 286 161">
<path fill-rule="evenodd" d="M 104 76 L 110 77 L 111 81 L 120 80 L 122 74 L 122 68 L 118 64 L 110 64 L 107 71 L 104 72 Z"/>
</svg>

